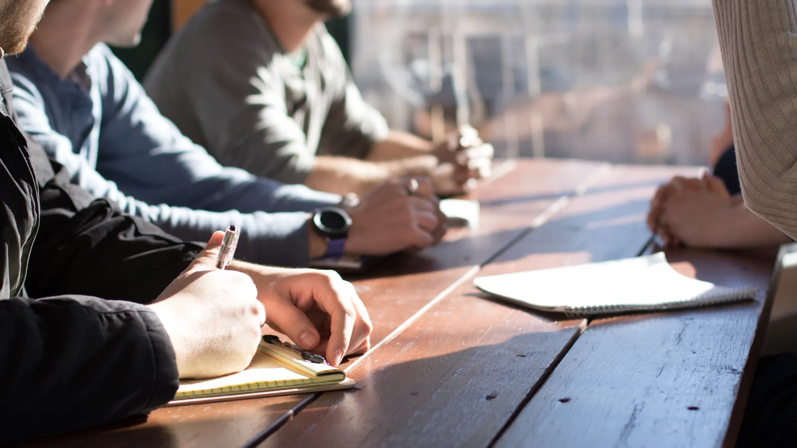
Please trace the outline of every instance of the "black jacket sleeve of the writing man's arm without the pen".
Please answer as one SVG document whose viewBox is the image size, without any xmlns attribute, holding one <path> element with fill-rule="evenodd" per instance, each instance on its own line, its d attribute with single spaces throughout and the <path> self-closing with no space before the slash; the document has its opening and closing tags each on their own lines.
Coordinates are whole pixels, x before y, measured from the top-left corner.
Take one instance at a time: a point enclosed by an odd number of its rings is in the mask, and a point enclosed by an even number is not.
<svg viewBox="0 0 797 448">
<path fill-rule="evenodd" d="M 113 202 L 94 200 L 28 141 L 41 184 L 41 218 L 26 281 L 30 297 L 83 294 L 147 304 L 202 250 L 122 213 Z"/>
</svg>

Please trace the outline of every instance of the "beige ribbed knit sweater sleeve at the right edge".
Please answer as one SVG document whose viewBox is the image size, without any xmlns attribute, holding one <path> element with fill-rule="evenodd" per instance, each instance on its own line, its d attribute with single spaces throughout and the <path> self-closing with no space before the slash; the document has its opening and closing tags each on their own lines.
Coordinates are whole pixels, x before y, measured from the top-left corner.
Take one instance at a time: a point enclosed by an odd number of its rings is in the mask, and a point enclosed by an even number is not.
<svg viewBox="0 0 797 448">
<path fill-rule="evenodd" d="M 713 0 L 744 202 L 797 238 L 795 0 Z"/>
</svg>

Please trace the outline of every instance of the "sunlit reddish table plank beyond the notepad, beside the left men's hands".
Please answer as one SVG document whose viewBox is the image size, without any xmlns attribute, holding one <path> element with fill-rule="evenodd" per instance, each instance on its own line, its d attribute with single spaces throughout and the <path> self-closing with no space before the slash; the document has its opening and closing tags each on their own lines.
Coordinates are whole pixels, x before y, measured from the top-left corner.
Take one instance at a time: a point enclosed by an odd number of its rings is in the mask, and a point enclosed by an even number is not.
<svg viewBox="0 0 797 448">
<path fill-rule="evenodd" d="M 526 160 L 473 195 L 481 203 L 478 229 L 457 229 L 438 246 L 399 254 L 367 277 L 351 277 L 374 322 L 372 344 L 394 332 L 450 285 L 518 238 L 549 207 L 591 182 L 600 163 Z"/>
</svg>

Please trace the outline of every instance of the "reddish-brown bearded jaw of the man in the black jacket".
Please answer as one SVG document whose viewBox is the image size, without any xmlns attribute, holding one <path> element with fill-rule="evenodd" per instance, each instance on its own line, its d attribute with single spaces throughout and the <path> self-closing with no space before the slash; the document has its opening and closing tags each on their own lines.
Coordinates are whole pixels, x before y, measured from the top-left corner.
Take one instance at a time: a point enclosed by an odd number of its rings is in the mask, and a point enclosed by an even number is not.
<svg viewBox="0 0 797 448">
<path fill-rule="evenodd" d="M 6 54 L 22 53 L 46 4 L 45 0 L 0 0 L 0 49 Z"/>
</svg>

